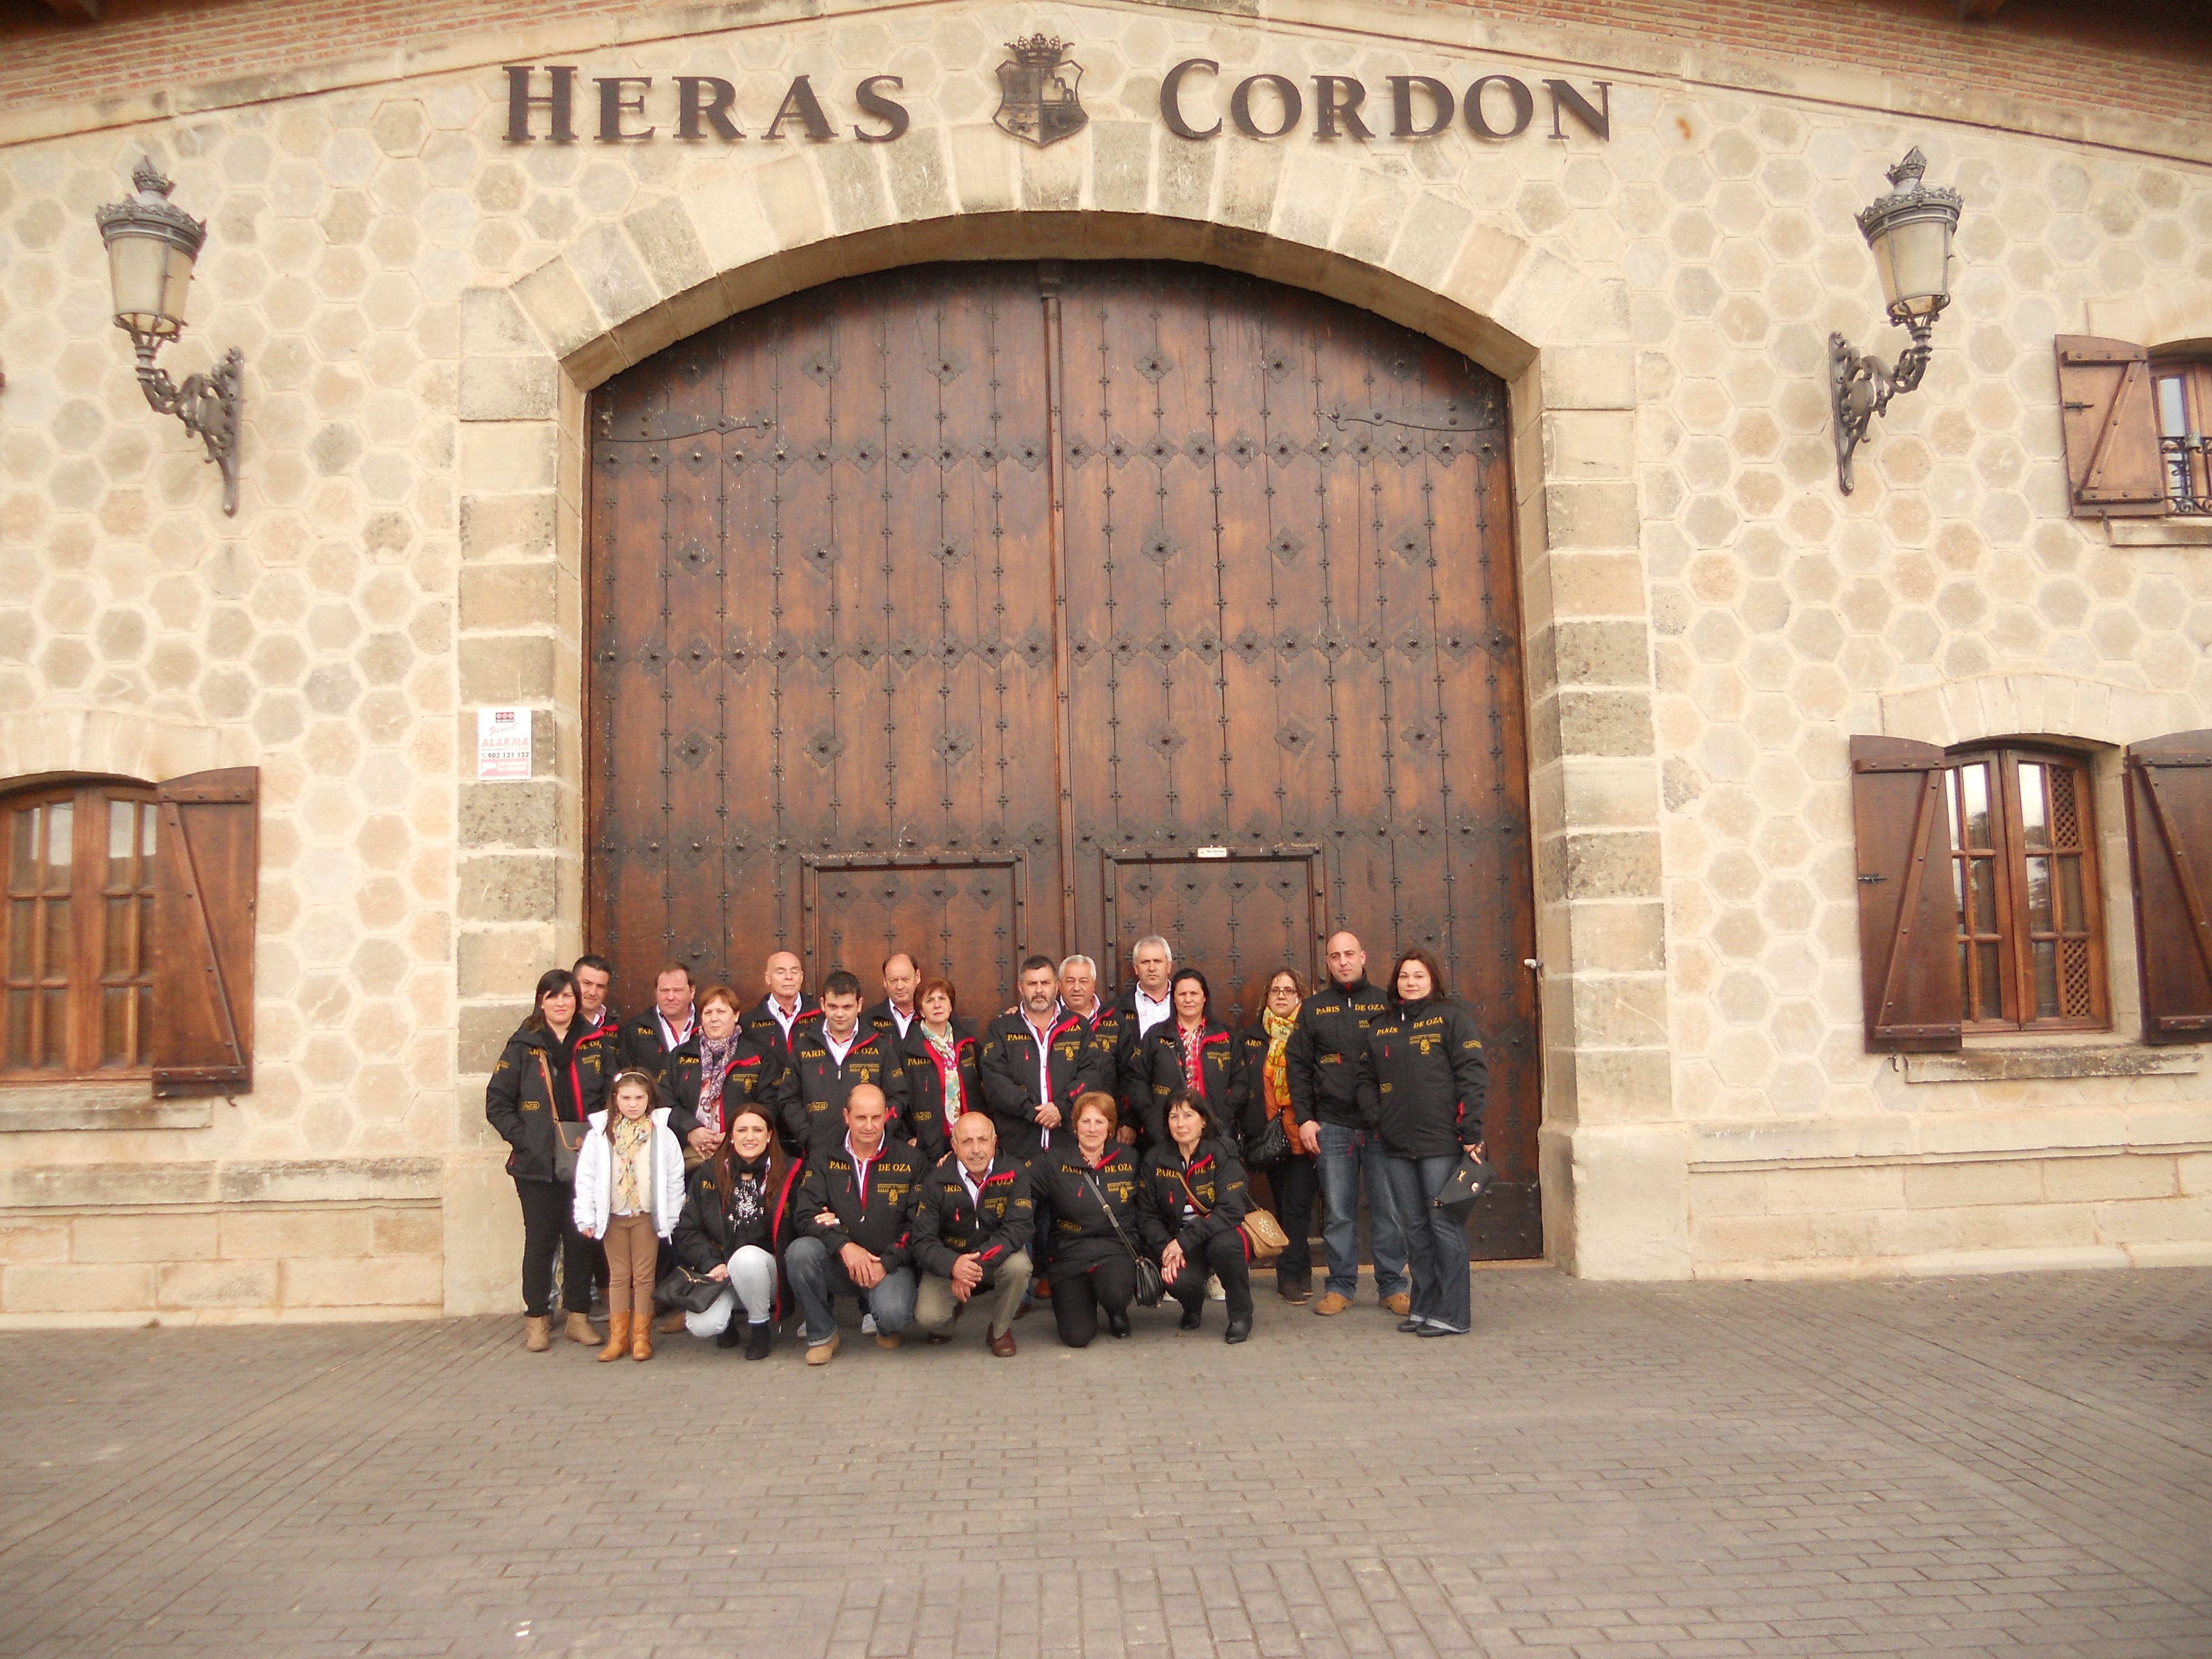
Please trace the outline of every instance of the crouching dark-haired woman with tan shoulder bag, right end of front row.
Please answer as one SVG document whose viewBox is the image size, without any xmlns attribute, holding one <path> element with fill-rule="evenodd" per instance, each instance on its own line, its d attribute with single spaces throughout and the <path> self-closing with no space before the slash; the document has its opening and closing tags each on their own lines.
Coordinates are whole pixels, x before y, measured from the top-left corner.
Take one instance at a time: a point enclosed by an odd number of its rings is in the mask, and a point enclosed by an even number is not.
<svg viewBox="0 0 2212 1659">
<path fill-rule="evenodd" d="M 1243 1159 L 1194 1088 L 1168 1095 L 1161 1126 L 1166 1139 L 1144 1155 L 1137 1228 L 1146 1250 L 1159 1256 L 1168 1294 L 1183 1305 L 1181 1327 L 1199 1327 L 1212 1274 L 1230 1305 L 1225 1340 L 1241 1343 L 1252 1334 L 1252 1263 L 1243 1239 L 1252 1199 Z"/>
</svg>

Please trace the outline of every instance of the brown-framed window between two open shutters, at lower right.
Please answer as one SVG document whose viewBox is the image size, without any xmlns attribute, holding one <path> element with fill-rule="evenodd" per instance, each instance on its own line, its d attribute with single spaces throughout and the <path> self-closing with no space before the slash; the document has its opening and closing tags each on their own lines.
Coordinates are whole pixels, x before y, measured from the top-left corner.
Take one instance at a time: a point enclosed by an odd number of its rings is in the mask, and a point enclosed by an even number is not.
<svg viewBox="0 0 2212 1659">
<path fill-rule="evenodd" d="M 2112 1024 L 2090 768 L 2057 750 L 1953 750 L 1944 779 L 1960 1020 Z"/>
</svg>

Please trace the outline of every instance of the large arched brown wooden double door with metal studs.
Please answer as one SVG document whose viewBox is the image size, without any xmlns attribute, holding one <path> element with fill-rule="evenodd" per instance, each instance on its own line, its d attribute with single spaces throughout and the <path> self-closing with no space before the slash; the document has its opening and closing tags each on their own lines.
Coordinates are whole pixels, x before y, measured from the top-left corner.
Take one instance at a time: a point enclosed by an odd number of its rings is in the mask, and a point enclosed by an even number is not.
<svg viewBox="0 0 2212 1659">
<path fill-rule="evenodd" d="M 588 936 L 748 991 L 779 945 L 962 1009 L 1166 933 L 1250 1020 L 1352 927 L 1478 1011 L 1540 1250 L 1502 383 L 1194 265 L 931 265 L 745 312 L 591 431 Z"/>
</svg>

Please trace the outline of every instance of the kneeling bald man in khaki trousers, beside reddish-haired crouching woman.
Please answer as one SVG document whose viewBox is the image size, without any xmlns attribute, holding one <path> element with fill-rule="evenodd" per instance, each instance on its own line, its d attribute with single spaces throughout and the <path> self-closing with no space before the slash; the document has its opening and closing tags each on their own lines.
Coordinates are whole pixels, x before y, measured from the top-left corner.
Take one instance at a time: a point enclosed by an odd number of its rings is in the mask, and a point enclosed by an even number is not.
<svg viewBox="0 0 2212 1659">
<path fill-rule="evenodd" d="M 998 1128 L 987 1113 L 962 1113 L 953 1124 L 953 1155 L 922 1177 L 914 1206 L 911 1256 L 920 1272 L 914 1323 L 931 1343 L 951 1340 L 953 1318 L 973 1298 L 991 1321 L 991 1352 L 1013 1358 L 1013 1316 L 1029 1290 L 1035 1228 L 1029 1170 L 1000 1157 Z"/>
</svg>

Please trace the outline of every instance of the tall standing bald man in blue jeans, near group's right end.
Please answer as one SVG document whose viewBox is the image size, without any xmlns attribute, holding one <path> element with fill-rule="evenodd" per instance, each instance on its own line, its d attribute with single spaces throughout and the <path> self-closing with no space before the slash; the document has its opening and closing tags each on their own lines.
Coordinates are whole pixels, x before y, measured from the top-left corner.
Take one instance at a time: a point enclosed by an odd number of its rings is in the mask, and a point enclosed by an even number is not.
<svg viewBox="0 0 2212 1659">
<path fill-rule="evenodd" d="M 1367 951 L 1352 933 L 1327 942 L 1329 984 L 1298 1006 L 1298 1029 L 1283 1048 L 1290 1102 L 1298 1135 L 1314 1155 L 1327 1221 L 1329 1279 L 1316 1314 L 1340 1314 L 1360 1290 L 1360 1186 L 1367 1188 L 1367 1228 L 1376 1259 L 1376 1296 L 1405 1318 L 1413 1310 L 1413 1281 L 1405 1270 L 1405 1225 L 1391 1201 L 1389 1164 L 1360 1119 L 1358 1071 L 1367 1029 L 1389 1011 L 1389 998 L 1367 984 Z"/>
</svg>

